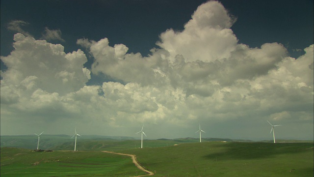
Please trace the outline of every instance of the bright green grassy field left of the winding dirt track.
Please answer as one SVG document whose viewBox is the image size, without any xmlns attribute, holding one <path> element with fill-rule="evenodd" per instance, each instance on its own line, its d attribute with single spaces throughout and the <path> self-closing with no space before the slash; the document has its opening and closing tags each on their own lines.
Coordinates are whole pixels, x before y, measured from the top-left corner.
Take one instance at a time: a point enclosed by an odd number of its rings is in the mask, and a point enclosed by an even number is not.
<svg viewBox="0 0 314 177">
<path fill-rule="evenodd" d="M 130 177 L 145 175 L 130 157 L 101 151 L 33 152 L 1 148 L 1 177 Z"/>
</svg>

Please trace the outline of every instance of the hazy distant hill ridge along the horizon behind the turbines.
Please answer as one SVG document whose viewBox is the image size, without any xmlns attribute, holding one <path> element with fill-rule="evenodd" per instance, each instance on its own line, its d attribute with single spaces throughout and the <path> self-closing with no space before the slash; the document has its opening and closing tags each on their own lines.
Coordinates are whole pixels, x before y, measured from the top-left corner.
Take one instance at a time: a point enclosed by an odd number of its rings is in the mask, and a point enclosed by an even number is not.
<svg viewBox="0 0 314 177">
<path fill-rule="evenodd" d="M 0 147 L 36 149 L 38 138 L 36 135 L 0 136 Z M 202 142 L 255 142 L 251 140 L 233 140 L 228 138 L 202 138 Z M 199 138 L 176 138 L 157 140 L 144 140 L 145 148 L 166 147 L 183 143 L 198 143 Z M 269 141 L 259 141 L 272 143 Z M 305 143 L 313 141 L 300 140 L 277 140 L 278 143 Z M 127 136 L 102 136 L 102 135 L 82 135 L 78 137 L 78 150 L 108 150 L 138 148 L 140 140 Z M 74 139 L 70 135 L 41 135 L 39 149 L 52 150 L 73 150 Z"/>
</svg>

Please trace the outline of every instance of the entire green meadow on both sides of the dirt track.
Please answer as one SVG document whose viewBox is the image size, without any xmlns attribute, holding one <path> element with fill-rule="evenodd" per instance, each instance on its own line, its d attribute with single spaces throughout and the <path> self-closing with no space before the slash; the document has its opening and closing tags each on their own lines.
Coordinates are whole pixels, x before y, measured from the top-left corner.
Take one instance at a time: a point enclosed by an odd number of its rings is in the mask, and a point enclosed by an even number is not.
<svg viewBox="0 0 314 177">
<path fill-rule="evenodd" d="M 109 145 L 110 142 L 108 141 Z M 122 143 L 123 142 L 123 143 Z M 165 145 L 158 147 L 158 142 Z M 95 143 L 95 142 L 94 142 Z M 101 144 L 105 144 L 103 141 Z M 172 140 L 121 141 L 108 146 L 115 152 L 135 154 L 138 162 L 156 177 L 313 177 L 314 149 L 311 143 L 202 142 Z M 146 144 L 145 144 L 146 143 Z M 173 146 L 177 143 L 177 146 Z M 95 143 L 98 145 L 97 143 Z M 114 144 L 114 143 L 112 143 Z M 171 144 L 171 146 L 170 146 Z M 166 146 L 168 145 L 168 146 Z M 85 145 L 90 146 L 90 143 Z M 1 177 L 66 177 L 145 175 L 131 158 L 93 151 L 33 152 L 22 148 L 1 148 Z"/>
</svg>

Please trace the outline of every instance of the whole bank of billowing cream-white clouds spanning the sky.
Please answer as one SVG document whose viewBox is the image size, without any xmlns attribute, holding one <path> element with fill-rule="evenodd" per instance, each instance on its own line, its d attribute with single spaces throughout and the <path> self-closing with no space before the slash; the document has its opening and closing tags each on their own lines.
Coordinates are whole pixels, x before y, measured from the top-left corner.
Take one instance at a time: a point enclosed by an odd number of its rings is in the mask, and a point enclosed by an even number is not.
<svg viewBox="0 0 314 177">
<path fill-rule="evenodd" d="M 184 128 L 235 120 L 301 122 L 311 130 L 314 45 L 298 59 L 278 43 L 250 48 L 238 43 L 233 23 L 221 3 L 209 1 L 183 31 L 163 32 L 161 48 L 147 57 L 128 53 L 124 44 L 109 45 L 107 38 L 78 39 L 94 58 L 91 72 L 122 81 L 101 86 L 85 85 L 90 71 L 82 51 L 65 54 L 60 44 L 18 33 L 15 50 L 1 57 L 8 66 L 1 72 L 1 119 L 49 113 L 54 122 L 75 119 L 93 127 L 89 134 L 103 134 L 102 124 Z"/>
</svg>

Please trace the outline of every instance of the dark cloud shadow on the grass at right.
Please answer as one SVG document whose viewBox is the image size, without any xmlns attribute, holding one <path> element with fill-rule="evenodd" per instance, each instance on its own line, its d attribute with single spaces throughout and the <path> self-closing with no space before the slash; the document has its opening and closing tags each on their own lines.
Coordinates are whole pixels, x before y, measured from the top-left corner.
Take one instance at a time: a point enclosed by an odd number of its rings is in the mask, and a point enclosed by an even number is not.
<svg viewBox="0 0 314 177">
<path fill-rule="evenodd" d="M 313 143 L 226 143 L 215 145 L 219 152 L 213 152 L 205 158 L 216 159 L 258 159 L 270 158 L 279 154 L 301 153 L 305 151 L 313 152 Z"/>
</svg>

